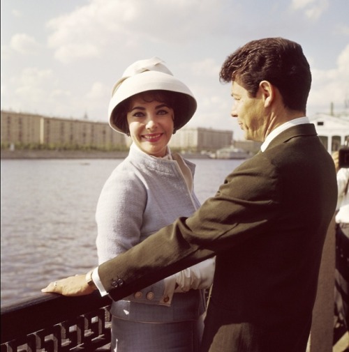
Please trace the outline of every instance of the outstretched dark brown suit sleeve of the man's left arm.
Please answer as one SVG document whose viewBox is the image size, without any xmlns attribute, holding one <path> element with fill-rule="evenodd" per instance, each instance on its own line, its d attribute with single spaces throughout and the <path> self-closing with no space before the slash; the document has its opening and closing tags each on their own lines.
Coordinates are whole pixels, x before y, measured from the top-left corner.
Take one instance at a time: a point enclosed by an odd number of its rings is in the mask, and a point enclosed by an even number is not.
<svg viewBox="0 0 349 352">
<path fill-rule="evenodd" d="M 260 163 L 263 167 L 260 167 Z M 191 217 L 179 217 L 147 240 L 98 268 L 114 300 L 214 257 L 267 229 L 282 180 L 262 154 L 233 171 Z"/>
</svg>

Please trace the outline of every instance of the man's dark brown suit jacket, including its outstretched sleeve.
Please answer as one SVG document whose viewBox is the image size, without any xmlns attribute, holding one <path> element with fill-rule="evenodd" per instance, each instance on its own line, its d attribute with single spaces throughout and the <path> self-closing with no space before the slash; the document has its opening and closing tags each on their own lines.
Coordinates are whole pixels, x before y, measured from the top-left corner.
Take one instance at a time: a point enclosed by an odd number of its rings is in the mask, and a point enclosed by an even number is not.
<svg viewBox="0 0 349 352">
<path fill-rule="evenodd" d="M 114 300 L 216 255 L 201 352 L 302 352 L 336 172 L 313 124 L 297 125 L 179 218 L 98 273 Z"/>
</svg>

